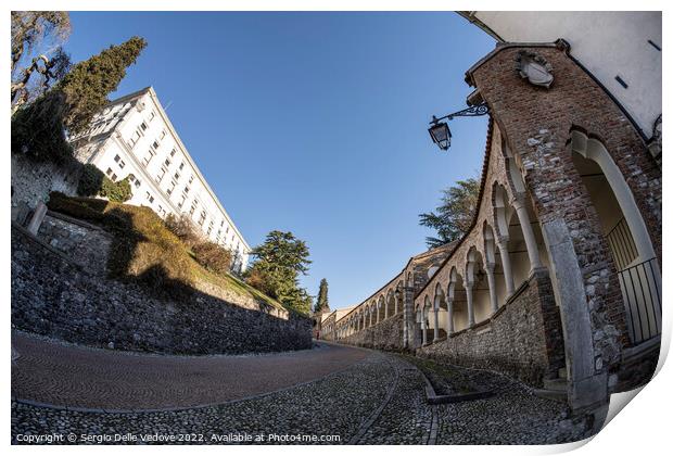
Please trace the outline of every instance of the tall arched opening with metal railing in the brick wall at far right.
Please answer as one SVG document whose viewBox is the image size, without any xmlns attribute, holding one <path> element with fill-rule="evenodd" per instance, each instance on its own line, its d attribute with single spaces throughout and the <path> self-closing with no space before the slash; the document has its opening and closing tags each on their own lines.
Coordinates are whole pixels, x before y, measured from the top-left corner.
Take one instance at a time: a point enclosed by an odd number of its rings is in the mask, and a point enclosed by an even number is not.
<svg viewBox="0 0 673 456">
<path fill-rule="evenodd" d="M 571 148 L 617 267 L 631 341 L 638 344 L 661 333 L 661 269 L 652 242 L 633 193 L 604 144 L 573 131 Z"/>
</svg>

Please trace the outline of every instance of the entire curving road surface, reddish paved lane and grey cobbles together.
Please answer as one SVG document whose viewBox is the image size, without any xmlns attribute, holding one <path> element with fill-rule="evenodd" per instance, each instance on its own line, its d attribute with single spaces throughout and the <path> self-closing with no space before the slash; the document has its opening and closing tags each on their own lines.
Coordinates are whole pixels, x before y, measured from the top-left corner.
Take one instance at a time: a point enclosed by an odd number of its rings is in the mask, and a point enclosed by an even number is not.
<svg viewBox="0 0 673 456">
<path fill-rule="evenodd" d="M 16 397 L 69 404 L 82 394 L 89 405 L 103 405 L 102 398 L 126 405 L 140 394 L 145 405 L 175 406 L 188 398 L 217 405 L 93 413 L 13 401 L 13 443 L 25 443 L 26 435 L 61 439 L 53 443 L 211 444 L 542 444 L 588 436 L 582 417 L 569 417 L 561 404 L 490 372 L 470 375 L 497 390 L 495 396 L 429 405 L 420 371 L 374 351 L 325 344 L 291 354 L 193 358 L 64 346 L 25 335 L 15 337 L 14 345 L 22 355 L 12 372 Z M 63 362 L 66 355 L 75 360 Z M 89 365 L 101 360 L 104 365 Z M 106 382 L 107 375 L 115 380 Z M 268 391 L 276 392 L 250 397 Z M 241 397 L 246 398 L 225 402 Z M 135 440 L 123 440 L 128 438 Z"/>
</svg>

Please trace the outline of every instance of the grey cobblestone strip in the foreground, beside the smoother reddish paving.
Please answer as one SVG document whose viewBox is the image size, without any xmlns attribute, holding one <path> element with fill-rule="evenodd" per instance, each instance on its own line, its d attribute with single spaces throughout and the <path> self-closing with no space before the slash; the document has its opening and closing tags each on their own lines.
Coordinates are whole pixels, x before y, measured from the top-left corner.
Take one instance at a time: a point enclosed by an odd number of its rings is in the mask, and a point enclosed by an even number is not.
<svg viewBox="0 0 673 456">
<path fill-rule="evenodd" d="M 351 358 L 353 352 L 359 359 Z M 312 443 L 292 435 L 315 435 L 313 443 L 330 444 L 531 444 L 588 436 L 583 422 L 568 419 L 560 404 L 500 376 L 483 373 L 483 381 L 497 390 L 494 397 L 431 406 L 424 400 L 422 375 L 394 355 L 339 346 L 313 353 L 344 356 L 350 365 L 263 396 L 182 410 L 86 413 L 13 402 L 12 440 L 49 433 L 74 435 L 76 443 L 84 442 L 82 434 L 91 435 L 92 443 L 114 443 L 115 435 L 130 435 L 138 443 L 145 435 L 173 435 L 188 443 L 241 443 L 232 442 L 240 435 L 253 439 L 247 443 L 259 443 L 254 439 L 261 436 L 262 443 Z M 264 358 L 255 357 L 262 363 Z"/>
</svg>

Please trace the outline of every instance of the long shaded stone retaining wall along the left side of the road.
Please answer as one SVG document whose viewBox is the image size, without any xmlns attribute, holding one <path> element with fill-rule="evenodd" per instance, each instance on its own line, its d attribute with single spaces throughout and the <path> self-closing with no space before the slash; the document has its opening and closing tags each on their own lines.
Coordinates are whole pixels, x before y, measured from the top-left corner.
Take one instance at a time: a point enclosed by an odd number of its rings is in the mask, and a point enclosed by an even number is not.
<svg viewBox="0 0 673 456">
<path fill-rule="evenodd" d="M 55 218 L 43 233 L 62 229 Z M 65 239 L 77 236 L 73 232 Z M 252 308 L 254 300 L 247 303 L 251 308 L 233 305 L 213 295 L 215 290 L 194 290 L 189 301 L 157 300 L 135 284 L 105 279 L 89 270 L 85 258 L 73 259 L 16 225 L 11 233 L 13 328 L 86 345 L 158 353 L 312 346 L 307 318 L 276 317 L 270 309 Z"/>
</svg>

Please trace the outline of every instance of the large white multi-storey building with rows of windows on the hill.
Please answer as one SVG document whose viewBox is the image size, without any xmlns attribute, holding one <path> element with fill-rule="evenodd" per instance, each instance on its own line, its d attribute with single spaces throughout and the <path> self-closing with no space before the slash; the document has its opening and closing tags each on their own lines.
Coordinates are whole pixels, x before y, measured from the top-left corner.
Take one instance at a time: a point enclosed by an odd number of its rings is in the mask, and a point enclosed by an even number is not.
<svg viewBox="0 0 673 456">
<path fill-rule="evenodd" d="M 152 87 L 114 100 L 91 128 L 72 138 L 75 156 L 113 181 L 127 178 L 128 204 L 151 207 L 162 218 L 185 214 L 203 237 L 233 255 L 243 271 L 250 245 L 227 214 L 173 127 Z"/>
</svg>

